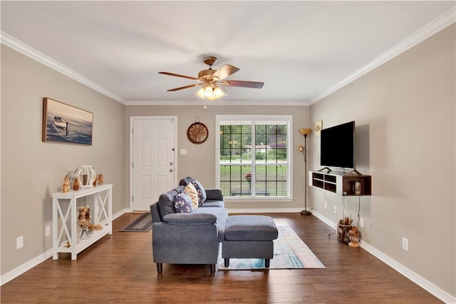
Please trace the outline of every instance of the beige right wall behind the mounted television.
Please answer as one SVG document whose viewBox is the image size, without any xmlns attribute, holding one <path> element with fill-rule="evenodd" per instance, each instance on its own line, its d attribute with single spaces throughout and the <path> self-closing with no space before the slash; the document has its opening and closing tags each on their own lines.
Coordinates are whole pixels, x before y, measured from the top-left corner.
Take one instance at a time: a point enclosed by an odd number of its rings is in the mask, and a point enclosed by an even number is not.
<svg viewBox="0 0 456 304">
<path fill-rule="evenodd" d="M 356 121 L 358 171 L 372 175 L 373 188 L 361 198 L 363 240 L 453 296 L 455 54 L 453 24 L 311 106 L 323 128 Z M 319 138 L 311 141 L 318 169 Z M 318 213 L 342 218 L 340 196 L 312 188 L 311 198 Z M 345 203 L 356 218 L 358 198 Z"/>
</svg>

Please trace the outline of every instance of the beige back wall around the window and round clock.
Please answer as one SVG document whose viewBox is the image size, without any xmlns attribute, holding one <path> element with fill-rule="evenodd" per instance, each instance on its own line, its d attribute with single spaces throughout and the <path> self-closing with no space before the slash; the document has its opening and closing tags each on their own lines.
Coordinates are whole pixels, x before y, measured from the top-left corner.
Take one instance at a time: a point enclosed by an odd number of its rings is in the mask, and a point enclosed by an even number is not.
<svg viewBox="0 0 456 304">
<path fill-rule="evenodd" d="M 177 116 L 177 178 L 192 176 L 202 182 L 205 188 L 215 186 L 215 116 L 229 114 L 242 115 L 292 115 L 291 127 L 294 146 L 291 149 L 293 157 L 293 188 L 294 200 L 291 202 L 229 202 L 227 208 L 234 209 L 261 209 L 268 208 L 283 211 L 301 211 L 304 209 L 304 162 L 302 153 L 296 152 L 296 146 L 303 144 L 304 137 L 298 132 L 299 128 L 309 127 L 309 106 L 127 106 L 125 121 L 126 133 L 131 116 Z M 203 144 L 195 145 L 187 139 L 187 128 L 195 122 L 195 117 L 209 128 L 209 138 Z M 128 139 L 129 140 L 129 139 Z M 180 149 L 186 148 L 187 155 L 180 155 Z M 130 151 L 125 147 L 125 163 L 128 163 Z M 129 174 L 129 172 L 126 172 Z"/>
</svg>

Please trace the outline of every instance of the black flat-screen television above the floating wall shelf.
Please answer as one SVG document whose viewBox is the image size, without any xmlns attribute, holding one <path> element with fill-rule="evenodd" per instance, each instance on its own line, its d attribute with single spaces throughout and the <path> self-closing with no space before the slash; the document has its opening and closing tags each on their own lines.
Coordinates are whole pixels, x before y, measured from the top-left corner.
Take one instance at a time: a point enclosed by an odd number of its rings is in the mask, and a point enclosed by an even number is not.
<svg viewBox="0 0 456 304">
<path fill-rule="evenodd" d="M 355 168 L 355 121 L 321 130 L 321 166 Z"/>
</svg>

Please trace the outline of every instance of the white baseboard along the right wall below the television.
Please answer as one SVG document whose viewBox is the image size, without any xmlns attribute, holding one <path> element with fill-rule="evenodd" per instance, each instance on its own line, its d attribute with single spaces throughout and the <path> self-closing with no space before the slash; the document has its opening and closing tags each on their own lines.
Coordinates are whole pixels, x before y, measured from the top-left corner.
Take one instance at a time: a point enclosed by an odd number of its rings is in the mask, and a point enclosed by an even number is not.
<svg viewBox="0 0 456 304">
<path fill-rule="evenodd" d="M 328 218 L 322 216 L 320 213 L 318 213 L 316 211 L 312 211 L 312 214 L 314 214 L 314 216 L 316 216 L 316 218 L 318 218 L 319 220 L 323 221 L 323 223 L 326 223 L 326 225 L 330 226 L 333 229 L 336 229 L 336 226 L 337 226 L 336 223 L 333 223 Z M 401 263 L 398 263 L 398 261 L 394 260 L 393 258 L 390 258 L 388 255 L 385 255 L 385 253 L 376 249 L 372 245 L 369 245 L 364 240 L 361 240 L 360 245 L 361 245 L 361 248 L 366 250 L 368 253 L 371 253 L 371 255 L 375 256 L 375 258 L 378 258 L 386 265 L 388 265 L 391 268 L 393 268 L 394 270 L 398 271 L 398 273 L 400 273 L 401 275 L 404 275 L 405 278 L 408 278 L 413 283 L 417 284 L 418 286 L 420 286 L 427 292 L 431 293 L 439 300 L 442 300 L 444 303 L 456 303 L 456 298 L 454 296 L 450 295 L 450 293 L 447 293 L 447 292 L 445 292 L 445 290 L 442 290 L 442 288 L 439 288 L 437 285 L 432 284 L 430 281 L 426 280 L 422 276 L 413 272 L 412 270 L 405 267 Z"/>
</svg>

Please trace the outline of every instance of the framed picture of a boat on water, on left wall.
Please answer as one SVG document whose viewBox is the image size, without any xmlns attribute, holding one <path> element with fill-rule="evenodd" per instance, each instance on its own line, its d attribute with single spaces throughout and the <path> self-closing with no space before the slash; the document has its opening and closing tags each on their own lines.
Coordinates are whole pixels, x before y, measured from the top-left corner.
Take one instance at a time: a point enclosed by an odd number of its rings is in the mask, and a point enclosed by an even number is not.
<svg viewBox="0 0 456 304">
<path fill-rule="evenodd" d="M 42 141 L 92 146 L 93 113 L 43 98 Z"/>
</svg>

